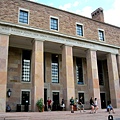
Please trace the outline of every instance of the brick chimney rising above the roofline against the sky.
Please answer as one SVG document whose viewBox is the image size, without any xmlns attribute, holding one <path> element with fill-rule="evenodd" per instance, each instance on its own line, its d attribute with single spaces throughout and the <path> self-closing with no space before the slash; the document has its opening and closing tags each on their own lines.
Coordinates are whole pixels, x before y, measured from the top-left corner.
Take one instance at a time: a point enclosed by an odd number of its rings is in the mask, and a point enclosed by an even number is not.
<svg viewBox="0 0 120 120">
<path fill-rule="evenodd" d="M 92 12 L 91 16 L 93 20 L 104 22 L 104 13 L 101 7 Z"/>
</svg>

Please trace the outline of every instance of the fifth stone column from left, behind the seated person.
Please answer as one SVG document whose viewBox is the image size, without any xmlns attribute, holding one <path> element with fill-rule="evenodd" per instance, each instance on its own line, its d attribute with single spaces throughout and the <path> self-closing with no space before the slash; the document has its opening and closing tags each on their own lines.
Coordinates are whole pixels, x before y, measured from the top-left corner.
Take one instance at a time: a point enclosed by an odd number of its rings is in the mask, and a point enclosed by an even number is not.
<svg viewBox="0 0 120 120">
<path fill-rule="evenodd" d="M 110 97 L 113 107 L 120 107 L 120 84 L 118 76 L 118 67 L 115 54 L 108 54 L 107 56 L 108 76 Z"/>
</svg>

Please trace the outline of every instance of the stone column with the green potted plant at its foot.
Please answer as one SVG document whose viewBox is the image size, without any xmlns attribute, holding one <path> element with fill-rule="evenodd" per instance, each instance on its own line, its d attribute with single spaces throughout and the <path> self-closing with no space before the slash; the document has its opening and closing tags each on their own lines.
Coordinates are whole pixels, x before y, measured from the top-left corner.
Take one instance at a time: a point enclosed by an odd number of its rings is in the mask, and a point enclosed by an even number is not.
<svg viewBox="0 0 120 120">
<path fill-rule="evenodd" d="M 44 60 L 43 60 L 43 41 L 35 40 L 32 50 L 32 110 L 38 111 L 36 102 L 38 99 L 44 100 Z"/>
</svg>

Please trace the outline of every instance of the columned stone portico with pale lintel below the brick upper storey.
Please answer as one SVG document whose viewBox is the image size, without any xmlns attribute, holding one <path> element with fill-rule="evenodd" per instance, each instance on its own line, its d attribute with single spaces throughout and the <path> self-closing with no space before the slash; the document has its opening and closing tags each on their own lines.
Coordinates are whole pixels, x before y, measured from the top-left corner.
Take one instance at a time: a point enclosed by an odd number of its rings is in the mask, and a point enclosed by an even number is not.
<svg viewBox="0 0 120 120">
<path fill-rule="evenodd" d="M 106 102 L 111 100 L 114 107 L 120 107 L 119 89 L 119 48 L 105 43 L 93 42 L 84 38 L 67 36 L 40 29 L 20 25 L 0 23 L 0 108 L 5 112 L 6 104 L 16 110 L 16 104 L 22 104 L 21 91 L 30 91 L 29 109 L 37 111 L 36 101 L 44 97 L 52 97 L 52 91 L 59 91 L 59 102 L 65 99 L 69 110 L 69 99 L 84 93 L 85 107 L 89 108 L 90 97 L 97 97 L 101 107 L 100 93 L 106 93 Z M 22 50 L 31 51 L 30 82 L 22 79 Z M 59 56 L 59 82 L 51 80 L 51 54 Z M 83 83 L 76 80 L 76 58 L 82 58 Z M 103 65 L 108 69 L 104 72 L 104 86 L 99 84 L 97 60 L 106 60 Z M 108 84 L 109 83 L 109 84 Z M 106 87 L 107 86 L 107 87 Z M 7 89 L 12 95 L 7 98 Z M 110 92 L 109 92 L 110 90 Z M 44 100 L 46 101 L 46 100 Z M 22 107 L 22 109 L 24 109 Z"/>
</svg>

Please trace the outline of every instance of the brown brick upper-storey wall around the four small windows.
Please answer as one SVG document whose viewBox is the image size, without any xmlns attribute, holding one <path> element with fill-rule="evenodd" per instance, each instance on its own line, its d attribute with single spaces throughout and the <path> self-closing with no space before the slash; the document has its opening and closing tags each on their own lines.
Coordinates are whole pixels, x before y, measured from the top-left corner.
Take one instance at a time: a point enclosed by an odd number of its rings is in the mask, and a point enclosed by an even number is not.
<svg viewBox="0 0 120 120">
<path fill-rule="evenodd" d="M 50 31 L 50 16 L 54 16 L 59 19 L 59 31 L 56 32 L 79 37 L 76 35 L 77 22 L 84 26 L 84 36 L 82 38 L 99 41 L 98 29 L 103 29 L 105 43 L 120 46 L 119 27 L 26 0 L 1 0 L 0 21 L 19 24 L 19 8 L 29 10 L 29 25 L 27 26 Z"/>
</svg>

